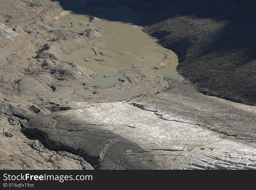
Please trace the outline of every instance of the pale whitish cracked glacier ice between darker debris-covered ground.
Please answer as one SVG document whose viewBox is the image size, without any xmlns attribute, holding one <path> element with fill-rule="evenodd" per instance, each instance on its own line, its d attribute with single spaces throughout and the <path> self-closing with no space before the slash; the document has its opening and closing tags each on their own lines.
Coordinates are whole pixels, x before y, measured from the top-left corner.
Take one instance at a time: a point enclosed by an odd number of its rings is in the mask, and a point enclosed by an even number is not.
<svg viewBox="0 0 256 190">
<path fill-rule="evenodd" d="M 101 125 L 139 144 L 154 156 L 159 169 L 256 169 L 255 143 L 196 124 L 163 120 L 128 102 L 73 102 L 70 106 L 75 109 L 65 114 L 74 118 L 71 122 Z"/>
</svg>

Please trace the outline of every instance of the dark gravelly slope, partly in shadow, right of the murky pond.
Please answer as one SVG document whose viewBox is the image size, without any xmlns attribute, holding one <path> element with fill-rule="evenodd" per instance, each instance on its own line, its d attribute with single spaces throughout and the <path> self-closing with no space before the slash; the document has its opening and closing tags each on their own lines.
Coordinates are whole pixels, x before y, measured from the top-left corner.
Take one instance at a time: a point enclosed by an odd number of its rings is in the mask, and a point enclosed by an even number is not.
<svg viewBox="0 0 256 190">
<path fill-rule="evenodd" d="M 203 93 L 256 105 L 255 9 L 250 0 L 149 3 L 145 32 L 180 55 L 179 73 Z"/>
</svg>

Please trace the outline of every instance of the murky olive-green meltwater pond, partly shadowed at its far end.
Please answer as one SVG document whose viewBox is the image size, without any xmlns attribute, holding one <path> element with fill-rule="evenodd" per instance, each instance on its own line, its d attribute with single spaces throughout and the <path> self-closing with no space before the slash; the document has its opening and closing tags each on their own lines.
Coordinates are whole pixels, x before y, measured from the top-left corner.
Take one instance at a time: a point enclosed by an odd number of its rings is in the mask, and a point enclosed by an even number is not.
<svg viewBox="0 0 256 190">
<path fill-rule="evenodd" d="M 173 51 L 159 46 L 154 39 L 141 31 L 141 27 L 133 25 L 131 19 L 139 19 L 131 10 L 122 8 L 106 10 L 107 20 L 102 16 L 99 22 L 89 24 L 90 15 L 67 14 L 59 19 L 59 26 L 66 30 L 79 32 L 88 28 L 98 30 L 102 37 L 91 40 L 88 47 L 77 50 L 67 56 L 80 66 L 88 67 L 97 72 L 98 77 L 92 82 L 102 87 L 111 87 L 120 83 L 119 77 L 127 70 L 132 71 L 133 66 L 143 66 L 142 73 L 154 76 L 170 76 L 172 79 L 182 80 L 177 74 L 178 58 Z M 113 15 L 113 16 L 111 16 Z M 93 15 L 97 16 L 97 15 Z M 118 21 L 115 21 L 118 20 Z M 121 21 L 120 21 L 121 20 Z M 72 24 L 71 24 L 72 23 Z M 98 55 L 95 55 L 95 48 Z M 100 54 L 100 53 L 101 54 Z M 165 68 L 156 69 L 158 65 Z M 113 75 L 104 77 L 105 75 Z"/>
</svg>

